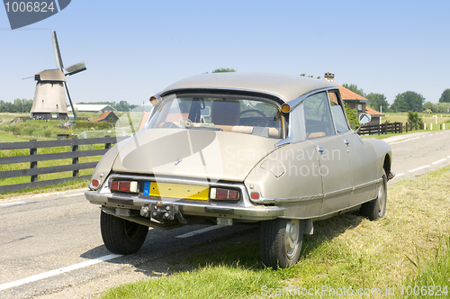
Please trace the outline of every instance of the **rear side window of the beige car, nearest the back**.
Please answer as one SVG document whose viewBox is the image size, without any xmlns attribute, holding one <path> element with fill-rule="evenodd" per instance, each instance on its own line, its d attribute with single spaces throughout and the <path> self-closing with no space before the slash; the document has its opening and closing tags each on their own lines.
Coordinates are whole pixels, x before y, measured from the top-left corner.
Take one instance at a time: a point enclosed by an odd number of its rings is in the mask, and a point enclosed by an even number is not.
<svg viewBox="0 0 450 299">
<path fill-rule="evenodd" d="M 308 96 L 303 101 L 303 109 L 307 139 L 335 134 L 326 92 Z"/>
</svg>

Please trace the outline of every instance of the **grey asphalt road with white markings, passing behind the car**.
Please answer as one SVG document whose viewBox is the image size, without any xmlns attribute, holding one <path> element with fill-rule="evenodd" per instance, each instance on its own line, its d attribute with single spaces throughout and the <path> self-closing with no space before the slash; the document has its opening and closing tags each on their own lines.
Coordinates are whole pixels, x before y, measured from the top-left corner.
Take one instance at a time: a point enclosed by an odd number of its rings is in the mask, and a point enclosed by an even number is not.
<svg viewBox="0 0 450 299">
<path fill-rule="evenodd" d="M 389 184 L 450 164 L 450 131 L 392 137 Z M 83 190 L 0 203 L 0 298 L 89 298 L 121 283 L 184 267 L 184 258 L 241 240 L 258 240 L 256 226 L 196 225 L 148 231 L 137 254 L 104 248 L 99 208 Z M 205 230 L 206 229 L 206 230 Z"/>
</svg>

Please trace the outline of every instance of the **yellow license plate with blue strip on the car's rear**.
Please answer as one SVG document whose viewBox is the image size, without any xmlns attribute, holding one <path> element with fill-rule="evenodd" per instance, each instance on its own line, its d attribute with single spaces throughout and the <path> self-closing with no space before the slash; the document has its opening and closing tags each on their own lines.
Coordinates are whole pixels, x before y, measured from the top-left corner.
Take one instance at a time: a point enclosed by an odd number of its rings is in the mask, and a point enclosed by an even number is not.
<svg viewBox="0 0 450 299">
<path fill-rule="evenodd" d="M 199 185 L 146 182 L 144 185 L 144 195 L 208 200 L 210 197 L 210 188 Z"/>
</svg>

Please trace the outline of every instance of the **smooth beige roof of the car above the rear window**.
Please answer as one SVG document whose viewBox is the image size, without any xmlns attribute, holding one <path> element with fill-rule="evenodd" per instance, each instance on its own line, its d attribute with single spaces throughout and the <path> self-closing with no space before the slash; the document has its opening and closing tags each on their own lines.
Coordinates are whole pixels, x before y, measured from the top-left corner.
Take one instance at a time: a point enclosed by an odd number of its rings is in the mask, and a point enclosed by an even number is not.
<svg viewBox="0 0 450 299">
<path fill-rule="evenodd" d="M 266 74 L 266 73 L 213 73 L 187 77 L 167 86 L 160 96 L 186 90 L 239 90 L 275 95 L 284 102 L 290 102 L 314 90 L 337 87 L 326 80 L 311 77 Z"/>
</svg>

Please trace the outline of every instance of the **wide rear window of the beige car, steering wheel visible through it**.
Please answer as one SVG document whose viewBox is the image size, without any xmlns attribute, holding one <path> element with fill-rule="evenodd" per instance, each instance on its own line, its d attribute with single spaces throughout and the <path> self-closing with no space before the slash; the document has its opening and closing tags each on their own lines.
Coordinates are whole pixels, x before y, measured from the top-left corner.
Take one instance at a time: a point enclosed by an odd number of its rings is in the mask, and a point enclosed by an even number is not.
<svg viewBox="0 0 450 299">
<path fill-rule="evenodd" d="M 157 104 L 146 129 L 216 130 L 280 139 L 283 121 L 278 106 L 268 100 L 169 95 Z"/>
</svg>

